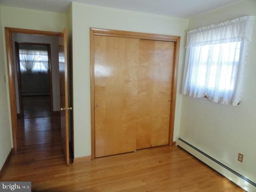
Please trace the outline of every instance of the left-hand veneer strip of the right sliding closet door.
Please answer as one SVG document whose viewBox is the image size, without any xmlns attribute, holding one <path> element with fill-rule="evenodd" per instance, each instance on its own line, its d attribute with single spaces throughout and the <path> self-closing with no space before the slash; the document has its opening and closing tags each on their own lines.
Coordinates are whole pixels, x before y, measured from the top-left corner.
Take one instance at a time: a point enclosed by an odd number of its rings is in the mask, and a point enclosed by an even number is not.
<svg viewBox="0 0 256 192">
<path fill-rule="evenodd" d="M 137 149 L 151 147 L 154 44 L 152 40 L 140 40 L 139 45 Z"/>
</svg>

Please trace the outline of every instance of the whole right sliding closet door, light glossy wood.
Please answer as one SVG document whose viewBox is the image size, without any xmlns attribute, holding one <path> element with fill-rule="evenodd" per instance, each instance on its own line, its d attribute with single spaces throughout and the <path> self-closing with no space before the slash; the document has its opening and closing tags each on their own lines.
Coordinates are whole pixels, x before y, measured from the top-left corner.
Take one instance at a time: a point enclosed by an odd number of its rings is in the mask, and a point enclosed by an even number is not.
<svg viewBox="0 0 256 192">
<path fill-rule="evenodd" d="M 136 148 L 168 144 L 174 42 L 140 40 Z"/>
</svg>

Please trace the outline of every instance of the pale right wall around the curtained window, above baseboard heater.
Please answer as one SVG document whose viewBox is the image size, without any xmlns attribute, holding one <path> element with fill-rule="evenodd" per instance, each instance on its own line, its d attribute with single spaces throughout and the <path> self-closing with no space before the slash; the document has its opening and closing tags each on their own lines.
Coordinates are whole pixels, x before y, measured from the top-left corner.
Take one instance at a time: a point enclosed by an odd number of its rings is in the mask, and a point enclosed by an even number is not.
<svg viewBox="0 0 256 192">
<path fill-rule="evenodd" d="M 189 20 L 189 29 L 256 16 L 256 1 L 245 0 Z M 205 98 L 182 98 L 180 137 L 226 166 L 256 182 L 256 21 L 250 42 L 244 92 L 238 106 L 210 102 Z M 238 162 L 238 153 L 244 162 Z"/>
</svg>

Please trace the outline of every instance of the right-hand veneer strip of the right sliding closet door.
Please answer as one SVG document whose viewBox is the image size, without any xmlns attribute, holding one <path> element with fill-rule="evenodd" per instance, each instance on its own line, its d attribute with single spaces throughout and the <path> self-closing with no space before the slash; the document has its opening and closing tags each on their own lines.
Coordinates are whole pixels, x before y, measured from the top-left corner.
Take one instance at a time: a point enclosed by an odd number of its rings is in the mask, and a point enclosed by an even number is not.
<svg viewBox="0 0 256 192">
<path fill-rule="evenodd" d="M 168 144 L 174 42 L 155 41 L 151 146 Z"/>
</svg>

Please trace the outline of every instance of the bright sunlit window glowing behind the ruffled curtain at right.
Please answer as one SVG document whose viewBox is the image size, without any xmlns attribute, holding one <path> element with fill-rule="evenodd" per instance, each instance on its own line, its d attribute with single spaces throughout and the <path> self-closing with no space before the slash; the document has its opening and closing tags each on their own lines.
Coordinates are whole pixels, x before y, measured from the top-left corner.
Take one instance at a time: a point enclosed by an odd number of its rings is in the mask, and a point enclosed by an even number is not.
<svg viewBox="0 0 256 192">
<path fill-rule="evenodd" d="M 196 61 L 198 67 L 192 68 L 192 79 L 195 80 L 192 82 L 193 86 L 198 84 L 198 86 L 208 86 L 211 89 L 234 90 L 240 42 L 196 46 L 192 48 L 192 53 L 199 58 Z M 208 77 L 206 77 L 207 72 Z M 206 80 L 206 78 L 209 79 Z"/>
</svg>

